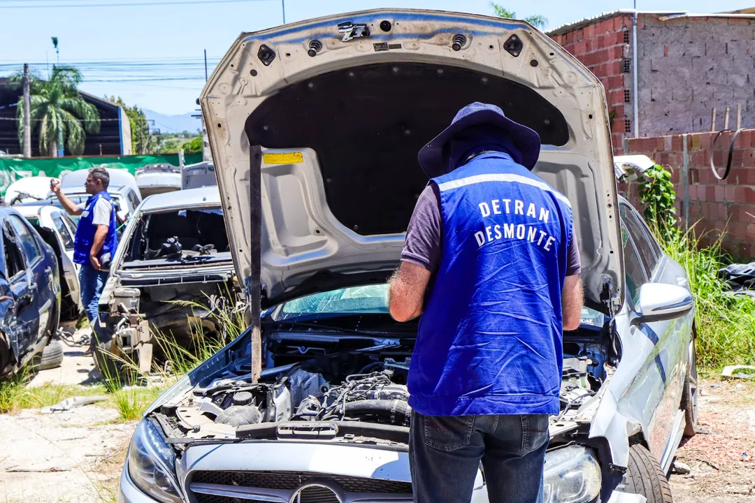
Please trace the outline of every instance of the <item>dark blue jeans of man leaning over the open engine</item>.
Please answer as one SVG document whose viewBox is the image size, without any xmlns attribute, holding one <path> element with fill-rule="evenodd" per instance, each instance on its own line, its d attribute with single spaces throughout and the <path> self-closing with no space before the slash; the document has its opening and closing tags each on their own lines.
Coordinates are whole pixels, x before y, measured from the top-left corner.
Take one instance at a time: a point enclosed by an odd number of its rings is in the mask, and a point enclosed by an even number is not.
<svg viewBox="0 0 755 503">
<path fill-rule="evenodd" d="M 411 415 L 414 503 L 469 503 L 480 461 L 491 503 L 542 503 L 548 416 Z"/>
</svg>

